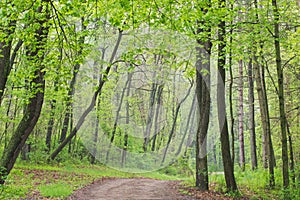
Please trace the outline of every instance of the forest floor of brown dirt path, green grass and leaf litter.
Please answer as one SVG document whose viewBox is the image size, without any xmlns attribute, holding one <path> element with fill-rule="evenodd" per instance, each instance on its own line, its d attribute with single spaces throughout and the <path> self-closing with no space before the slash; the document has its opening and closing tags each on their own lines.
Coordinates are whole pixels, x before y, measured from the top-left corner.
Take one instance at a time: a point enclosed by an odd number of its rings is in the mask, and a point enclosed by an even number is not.
<svg viewBox="0 0 300 200">
<path fill-rule="evenodd" d="M 220 184 L 213 181 L 211 191 L 203 192 L 193 187 L 192 180 L 180 180 L 159 172 L 136 175 L 105 166 L 19 165 L 0 187 L 0 199 L 234 199 L 232 194 L 215 192 L 220 190 L 220 187 L 216 188 Z M 254 193 L 249 191 L 249 194 L 238 199 L 249 199 Z M 237 199 L 237 196 L 234 197 Z"/>
</svg>

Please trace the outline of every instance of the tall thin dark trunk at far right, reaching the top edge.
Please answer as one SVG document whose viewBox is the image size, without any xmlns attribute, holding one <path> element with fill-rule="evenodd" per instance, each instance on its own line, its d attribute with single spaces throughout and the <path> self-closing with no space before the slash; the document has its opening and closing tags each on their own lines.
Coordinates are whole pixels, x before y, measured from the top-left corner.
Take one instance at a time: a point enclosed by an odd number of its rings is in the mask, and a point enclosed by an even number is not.
<svg viewBox="0 0 300 200">
<path fill-rule="evenodd" d="M 283 187 L 289 187 L 289 165 L 288 165 L 288 147 L 287 147 L 287 120 L 284 107 L 284 88 L 283 88 L 283 69 L 281 64 L 280 52 L 280 36 L 279 36 L 279 11 L 277 1 L 272 0 L 273 15 L 274 15 L 274 46 L 276 54 L 276 69 L 278 81 L 278 100 L 280 110 L 280 127 L 281 127 L 281 145 L 282 145 L 282 177 Z"/>
</svg>

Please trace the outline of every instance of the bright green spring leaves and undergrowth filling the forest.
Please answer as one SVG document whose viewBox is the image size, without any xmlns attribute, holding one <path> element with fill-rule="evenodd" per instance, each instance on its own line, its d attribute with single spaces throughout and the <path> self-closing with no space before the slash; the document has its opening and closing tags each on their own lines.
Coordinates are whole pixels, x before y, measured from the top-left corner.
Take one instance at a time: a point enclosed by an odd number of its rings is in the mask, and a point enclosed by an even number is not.
<svg viewBox="0 0 300 200">
<path fill-rule="evenodd" d="M 146 0 L 142 3 L 129 0 L 49 1 L 48 9 L 51 13 L 51 19 L 45 24 L 45 26 L 49 26 L 49 34 L 43 45 L 36 41 L 37 30 L 40 28 L 36 21 L 45 19 L 42 13 L 37 12 L 41 2 L 45 3 L 42 0 L 28 0 L 26 2 L 12 0 L 0 3 L 0 64 L 2 66 L 2 64 L 9 63 L 8 67 L 11 68 L 7 76 L 2 71 L 0 73 L 1 78 L 7 79 L 4 89 L 1 91 L 4 92 L 3 96 L 1 94 L 0 97 L 1 155 L 7 149 L 10 138 L 25 115 L 24 110 L 29 104 L 30 98 L 37 93 L 36 89 L 32 89 L 35 88 L 35 85 L 31 83 L 36 78 L 34 72 L 37 68 L 43 68 L 42 73 L 45 73 L 44 81 L 46 82 L 43 109 L 39 113 L 37 125 L 26 141 L 25 147 L 28 148 L 22 149 L 24 157 L 18 158 L 16 169 L 11 175 L 8 177 L 1 175 L 0 177 L 1 180 L 7 180 L 5 185 L 0 186 L 1 198 L 24 198 L 28 195 L 28 191 L 33 193 L 35 190 L 39 190 L 43 196 L 65 197 L 71 191 L 102 176 L 190 178 L 195 168 L 194 152 L 187 153 L 188 157 L 178 156 L 175 162 L 173 158 L 170 159 L 173 164 L 158 172 L 133 175 L 107 169 L 98 165 L 97 161 L 96 166 L 90 166 L 89 162 L 93 156 L 91 156 L 91 148 L 88 147 L 96 146 L 103 138 L 108 138 L 113 146 L 118 149 L 126 149 L 131 153 L 142 154 L 146 151 L 157 153 L 164 150 L 168 145 L 169 138 L 171 138 L 171 142 L 182 138 L 185 128 L 187 128 L 186 133 L 188 134 L 196 132 L 197 113 L 194 112 L 190 117 L 193 120 L 189 124 L 187 124 L 186 117 L 189 110 L 195 110 L 191 103 L 194 91 L 194 86 L 191 86 L 191 83 L 193 83 L 196 74 L 194 68 L 196 41 L 205 41 L 211 37 L 213 43 L 211 68 L 215 69 L 217 47 L 220 45 L 217 38 L 217 25 L 220 20 L 226 21 L 226 59 L 232 59 L 232 66 L 227 64 L 226 69 L 231 67 L 234 76 L 232 80 L 234 87 L 233 115 L 236 117 L 239 103 L 237 98 L 238 62 L 242 60 L 243 66 L 246 68 L 250 61 L 254 63 L 253 60 L 257 57 L 262 73 L 265 74 L 272 142 L 277 161 L 277 168 L 275 169 L 276 187 L 274 189 L 267 187 L 268 172 L 262 168 L 261 161 L 259 161 L 258 169 L 255 171 L 251 171 L 250 166 L 246 165 L 246 171 L 242 172 L 236 165 L 235 176 L 241 192 L 242 194 L 254 193 L 253 198 L 273 198 L 275 196 L 283 198 L 285 195 L 290 195 L 290 198 L 293 199 L 299 198 L 298 177 L 296 177 L 296 183 L 291 184 L 291 187 L 282 189 L 280 186 L 282 182 L 280 168 L 283 164 L 281 160 L 282 138 L 279 128 L 280 110 L 277 98 L 279 86 L 275 81 L 277 74 L 273 33 L 273 25 L 277 22 L 274 21 L 274 10 L 270 1 L 245 1 L 242 3 L 227 1 L 224 8 L 220 8 L 219 2 L 216 0 Z M 258 4 L 257 7 L 255 7 L 255 2 Z M 288 135 L 291 137 L 294 148 L 295 174 L 299 176 L 300 160 L 297 156 L 300 153 L 299 5 L 291 0 L 279 0 L 277 2 L 280 14 L 278 40 L 281 45 L 284 73 L 284 103 L 288 121 L 287 127 L 290 131 Z M 199 28 L 208 30 L 208 27 L 210 31 L 196 34 Z M 110 60 L 119 32 L 122 32 L 123 39 L 115 58 Z M 5 49 L 8 47 L 10 47 L 9 56 L 5 54 Z M 37 50 L 36 57 L 29 55 L 30 49 L 32 51 Z M 230 52 L 231 58 L 229 58 Z M 8 58 L 9 62 L 4 62 L 3 59 L 5 58 Z M 43 61 L 39 61 L 38 58 L 43 58 Z M 106 74 L 106 69 L 109 67 L 112 67 L 112 70 Z M 78 75 L 75 77 L 77 73 Z M 126 79 L 130 73 L 132 74 L 132 82 L 131 87 L 128 87 L 126 86 Z M 207 73 L 206 70 L 202 71 L 204 76 Z M 98 88 L 99 80 L 104 75 L 108 76 L 101 90 L 101 95 L 97 97 L 99 104 L 91 112 L 85 125 L 79 130 L 79 134 L 66 145 L 66 148 L 61 150 L 56 160 L 50 161 L 50 164 L 54 166 L 48 166 L 49 154 L 60 145 L 59 138 L 62 129 L 67 128 L 67 135 L 71 133 L 72 129 L 74 130 L 79 117 L 91 101 L 93 92 Z M 244 99 L 247 100 L 247 77 L 245 74 L 244 76 Z M 72 80 L 77 81 L 74 88 L 71 88 Z M 216 84 L 214 81 L 212 80 L 212 85 Z M 227 79 L 226 81 L 231 80 Z M 160 101 L 158 98 L 159 87 L 163 88 Z M 178 118 L 175 118 L 176 106 L 179 105 L 189 87 L 191 87 L 192 92 L 180 108 Z M 74 93 L 71 92 L 73 89 Z M 129 89 L 128 95 L 125 95 Z M 122 92 L 125 95 L 123 99 L 121 99 Z M 154 97 L 151 94 L 154 94 Z M 154 104 L 151 105 L 152 100 Z M 85 104 L 86 102 L 87 104 Z M 254 104 L 257 153 L 260 159 L 263 151 L 262 130 L 264 125 L 260 120 L 262 113 L 259 110 L 257 92 L 255 92 Z M 130 110 L 128 113 L 127 106 Z M 119 111 L 118 108 L 120 108 Z M 158 114 L 155 114 L 154 110 L 158 110 Z M 248 112 L 248 106 L 244 106 L 246 163 L 251 161 Z M 70 114 L 71 117 L 68 127 L 64 127 L 64 118 L 67 114 Z M 128 124 L 125 123 L 126 116 L 130 119 Z M 156 122 L 155 116 L 158 116 Z M 216 126 L 217 119 L 214 120 L 213 118 L 215 117 L 211 117 L 210 121 L 211 129 L 219 135 L 219 128 Z M 98 138 L 94 139 L 96 120 L 99 120 Z M 149 121 L 151 121 L 150 126 Z M 229 123 L 233 122 L 229 121 Z M 156 128 L 155 125 L 157 125 Z M 234 136 L 238 138 L 238 125 L 237 123 L 233 125 Z M 146 129 L 147 126 L 150 127 L 148 138 L 145 137 L 145 130 L 137 128 Z M 49 131 L 50 128 L 51 131 Z M 176 134 L 174 135 L 171 135 L 172 128 L 175 129 Z M 134 134 L 128 135 L 128 133 Z M 126 134 L 127 141 L 125 144 Z M 152 137 L 154 135 L 157 136 L 156 143 Z M 47 136 L 51 136 L 50 148 L 45 142 Z M 149 139 L 150 142 L 146 143 L 145 138 Z M 209 148 L 214 150 L 208 152 L 209 172 L 222 171 L 219 138 L 209 134 L 209 139 L 213 140 L 213 143 L 209 144 Z M 185 138 L 184 141 L 187 140 L 188 138 Z M 190 138 L 190 140 L 193 142 L 194 138 Z M 233 141 L 235 147 L 238 146 L 238 142 L 237 139 Z M 152 150 L 153 144 L 156 146 Z M 179 144 L 175 143 L 172 148 L 178 146 Z M 107 155 L 106 152 L 110 150 L 109 148 L 102 149 L 101 145 L 97 147 L 96 150 L 98 153 L 100 152 L 101 156 Z M 189 147 L 188 151 L 193 151 L 193 149 L 195 149 L 194 146 Z M 237 158 L 239 149 L 236 148 L 231 153 Z M 112 152 L 110 156 L 119 156 L 119 154 Z M 149 160 L 157 161 L 155 158 Z M 140 159 L 127 158 L 126 162 L 126 169 L 133 166 L 149 167 L 149 162 Z M 235 162 L 238 164 L 237 159 Z M 74 165 L 81 167 L 78 168 Z M 1 172 L 5 171 L 5 168 L 0 167 Z M 70 180 L 63 180 L 61 176 L 59 176 L 59 181 L 47 177 L 51 183 L 48 183 L 46 178 L 39 181 L 31 180 L 30 178 L 35 175 L 28 170 L 51 171 L 54 174 L 64 173 L 68 175 L 75 173 L 75 177 L 77 175 L 78 177 L 71 181 L 70 188 L 61 190 L 61 193 L 52 193 L 52 189 L 53 191 L 61 189 L 61 186 L 69 183 Z M 80 180 L 79 177 L 81 176 L 82 179 Z M 290 179 L 292 180 L 292 176 Z M 195 180 L 191 178 L 191 181 L 194 182 Z M 210 182 L 213 189 L 220 192 L 226 190 L 223 175 L 211 174 Z M 35 184 L 39 187 L 36 187 Z M 234 196 L 235 194 L 230 195 Z"/>
</svg>

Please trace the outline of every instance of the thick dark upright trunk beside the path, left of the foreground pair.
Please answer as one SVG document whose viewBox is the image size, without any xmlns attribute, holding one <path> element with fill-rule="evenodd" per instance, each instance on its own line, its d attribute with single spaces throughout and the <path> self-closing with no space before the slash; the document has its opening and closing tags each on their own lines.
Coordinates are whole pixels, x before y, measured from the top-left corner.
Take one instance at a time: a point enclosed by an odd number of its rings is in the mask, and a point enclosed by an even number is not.
<svg viewBox="0 0 300 200">
<path fill-rule="evenodd" d="M 198 22 L 198 26 L 208 26 L 208 24 Z M 208 32 L 209 36 L 205 39 L 198 39 L 199 46 L 196 47 L 196 95 L 199 115 L 196 135 L 196 186 L 202 191 L 208 190 L 207 131 L 210 114 L 210 55 L 212 47 L 210 31 L 209 27 L 198 28 L 198 34 Z"/>
</svg>

